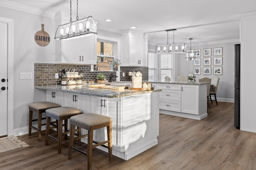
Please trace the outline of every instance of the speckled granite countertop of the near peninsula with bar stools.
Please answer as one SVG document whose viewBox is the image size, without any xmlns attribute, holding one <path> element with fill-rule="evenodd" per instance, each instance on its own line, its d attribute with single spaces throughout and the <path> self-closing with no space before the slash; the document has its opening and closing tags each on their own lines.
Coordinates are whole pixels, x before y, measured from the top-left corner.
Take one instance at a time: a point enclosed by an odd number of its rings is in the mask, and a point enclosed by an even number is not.
<svg viewBox="0 0 256 170">
<path fill-rule="evenodd" d="M 118 82 L 116 82 L 116 83 L 118 83 Z M 121 83 L 121 82 L 119 82 L 119 83 Z M 131 82 L 122 82 L 122 84 L 123 83 L 130 84 Z M 60 92 L 69 92 L 69 93 L 75 93 L 75 94 L 85 94 L 85 95 L 90 95 L 90 96 L 99 96 L 99 97 L 106 97 L 106 98 L 120 98 L 120 97 L 124 97 L 124 96 L 136 95 L 136 94 L 145 94 L 145 93 L 162 91 L 161 89 L 159 89 L 159 90 L 154 89 L 154 90 L 148 90 L 148 91 L 125 89 L 124 91 L 120 92 L 118 90 L 110 90 L 110 89 L 102 89 L 102 88 L 89 88 L 88 85 L 91 85 L 91 84 L 97 84 L 97 83 L 71 85 L 71 86 L 62 86 L 62 85 L 35 86 L 35 88 L 44 89 L 44 90 L 54 90 L 54 91 L 60 91 Z"/>
</svg>

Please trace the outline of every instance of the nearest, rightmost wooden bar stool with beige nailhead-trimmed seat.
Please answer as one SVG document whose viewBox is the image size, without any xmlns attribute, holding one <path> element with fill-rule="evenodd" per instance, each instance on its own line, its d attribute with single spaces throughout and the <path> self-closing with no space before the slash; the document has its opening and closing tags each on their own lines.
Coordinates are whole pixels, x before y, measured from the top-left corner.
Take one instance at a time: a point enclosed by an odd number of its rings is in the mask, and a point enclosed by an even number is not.
<svg viewBox="0 0 256 170">
<path fill-rule="evenodd" d="M 88 134 L 74 137 L 75 126 L 88 130 Z M 104 142 L 93 141 L 93 130 L 107 127 L 108 140 Z M 88 136 L 87 141 L 87 153 L 76 147 L 73 147 L 74 140 L 81 139 Z M 96 143 L 96 144 L 92 144 Z M 68 159 L 72 157 L 72 149 L 75 149 L 83 154 L 87 154 L 87 168 L 92 168 L 92 149 L 98 146 L 106 147 L 105 143 L 108 143 L 108 157 L 112 161 L 112 118 L 95 113 L 84 113 L 70 117 L 70 144 L 68 150 Z"/>
</svg>

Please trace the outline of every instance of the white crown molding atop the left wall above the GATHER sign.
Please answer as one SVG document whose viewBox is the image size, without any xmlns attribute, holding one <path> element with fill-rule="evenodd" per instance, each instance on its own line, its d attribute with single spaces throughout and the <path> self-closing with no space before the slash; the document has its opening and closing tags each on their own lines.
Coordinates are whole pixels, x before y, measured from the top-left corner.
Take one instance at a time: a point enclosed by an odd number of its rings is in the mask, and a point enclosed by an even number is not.
<svg viewBox="0 0 256 170">
<path fill-rule="evenodd" d="M 20 10 L 23 12 L 28 12 L 28 13 L 36 14 L 36 15 L 40 15 L 40 16 L 46 16 L 49 18 L 54 18 L 54 16 L 55 16 L 54 12 L 40 10 L 38 8 L 32 8 L 30 6 L 26 6 L 26 5 L 22 5 L 22 4 L 18 4 L 18 3 L 14 3 L 14 2 L 9 2 L 6 0 L 0 0 L 0 6 L 6 7 L 6 8 L 12 8 L 14 10 Z"/>
</svg>

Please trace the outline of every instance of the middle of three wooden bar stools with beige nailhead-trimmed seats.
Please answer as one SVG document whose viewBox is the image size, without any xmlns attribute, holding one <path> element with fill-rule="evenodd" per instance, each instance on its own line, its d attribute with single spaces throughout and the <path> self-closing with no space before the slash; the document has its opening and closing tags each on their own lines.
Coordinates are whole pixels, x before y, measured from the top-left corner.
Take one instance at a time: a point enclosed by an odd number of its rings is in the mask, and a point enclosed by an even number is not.
<svg viewBox="0 0 256 170">
<path fill-rule="evenodd" d="M 57 107 L 52 109 L 47 109 L 46 111 L 46 134 L 45 134 L 45 145 L 48 145 L 49 137 L 54 139 L 58 142 L 58 153 L 61 153 L 61 146 L 62 146 L 62 136 L 65 135 L 65 139 L 68 139 L 68 119 L 74 115 L 81 114 L 82 111 L 72 108 L 72 107 Z M 58 128 L 58 138 L 50 135 L 50 119 L 56 119 Z M 63 120 L 64 120 L 64 132 L 62 132 L 62 126 L 63 126 Z M 80 135 L 80 130 L 78 130 L 78 135 Z M 80 141 L 78 143 L 80 145 Z"/>
</svg>

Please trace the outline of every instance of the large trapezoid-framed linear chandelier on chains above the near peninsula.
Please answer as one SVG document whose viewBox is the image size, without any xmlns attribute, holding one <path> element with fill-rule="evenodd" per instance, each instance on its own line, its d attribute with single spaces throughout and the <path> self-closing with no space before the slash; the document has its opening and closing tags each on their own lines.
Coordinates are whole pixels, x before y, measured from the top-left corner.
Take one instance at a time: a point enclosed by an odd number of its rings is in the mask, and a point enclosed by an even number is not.
<svg viewBox="0 0 256 170">
<path fill-rule="evenodd" d="M 72 0 L 70 0 L 70 22 L 58 26 L 55 39 L 68 40 L 98 34 L 92 16 L 78 20 L 78 0 L 76 2 L 76 21 L 72 21 Z"/>
</svg>

